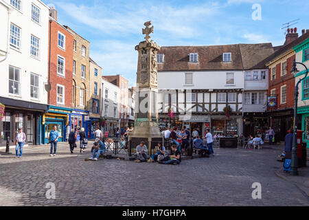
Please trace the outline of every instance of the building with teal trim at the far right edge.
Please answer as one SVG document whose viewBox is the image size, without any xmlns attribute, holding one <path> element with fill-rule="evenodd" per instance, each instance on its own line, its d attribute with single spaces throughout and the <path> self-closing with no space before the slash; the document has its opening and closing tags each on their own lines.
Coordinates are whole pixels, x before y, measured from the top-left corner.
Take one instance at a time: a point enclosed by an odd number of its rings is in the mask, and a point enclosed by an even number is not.
<svg viewBox="0 0 309 220">
<path fill-rule="evenodd" d="M 309 30 L 303 30 L 303 34 L 309 33 Z M 306 67 L 309 67 L 309 36 L 307 39 L 304 39 L 303 42 L 299 43 L 295 47 L 295 60 L 299 63 L 304 63 Z M 305 67 L 303 65 L 297 65 L 297 69 L 299 72 L 295 74 L 295 83 L 299 81 L 299 79 L 304 78 L 306 74 Z M 297 113 L 301 117 L 301 126 L 299 129 L 304 131 L 303 133 L 303 142 L 307 143 L 307 148 L 309 147 L 309 76 L 307 76 L 302 82 L 299 84 L 299 98 L 297 102 L 298 110 Z M 300 118 L 299 117 L 299 118 Z"/>
</svg>

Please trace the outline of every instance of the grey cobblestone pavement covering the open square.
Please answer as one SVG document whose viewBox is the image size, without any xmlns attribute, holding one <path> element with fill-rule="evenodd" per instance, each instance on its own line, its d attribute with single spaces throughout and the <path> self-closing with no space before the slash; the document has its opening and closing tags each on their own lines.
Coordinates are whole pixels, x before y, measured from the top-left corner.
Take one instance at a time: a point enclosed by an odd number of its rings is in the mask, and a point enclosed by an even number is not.
<svg viewBox="0 0 309 220">
<path fill-rule="evenodd" d="M 78 149 L 78 148 L 77 148 Z M 79 150 L 79 149 L 78 149 Z M 181 165 L 99 159 L 84 161 L 58 144 L 24 148 L 23 158 L 0 155 L 2 206 L 308 206 L 294 184 L 275 175 L 278 147 L 261 150 L 220 148 L 210 158 L 183 160 Z M 77 152 L 78 151 L 78 152 Z M 46 184 L 56 186 L 56 199 L 46 199 Z M 252 199 L 254 182 L 262 199 Z"/>
</svg>

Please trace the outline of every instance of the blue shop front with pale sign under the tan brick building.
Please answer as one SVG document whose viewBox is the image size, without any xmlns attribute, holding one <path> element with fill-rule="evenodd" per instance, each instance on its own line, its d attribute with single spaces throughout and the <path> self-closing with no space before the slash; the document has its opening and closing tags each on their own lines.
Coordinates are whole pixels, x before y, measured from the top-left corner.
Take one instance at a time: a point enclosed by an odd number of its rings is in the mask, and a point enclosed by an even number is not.
<svg viewBox="0 0 309 220">
<path fill-rule="evenodd" d="M 89 115 L 89 111 L 84 111 L 81 109 L 73 109 L 71 113 L 71 128 L 78 129 L 78 137 L 77 140 L 80 140 L 80 129 L 84 128 L 85 133 L 89 133 L 88 131 L 88 123 L 85 120 L 85 117 Z M 87 118 L 86 118 L 87 119 Z"/>
</svg>

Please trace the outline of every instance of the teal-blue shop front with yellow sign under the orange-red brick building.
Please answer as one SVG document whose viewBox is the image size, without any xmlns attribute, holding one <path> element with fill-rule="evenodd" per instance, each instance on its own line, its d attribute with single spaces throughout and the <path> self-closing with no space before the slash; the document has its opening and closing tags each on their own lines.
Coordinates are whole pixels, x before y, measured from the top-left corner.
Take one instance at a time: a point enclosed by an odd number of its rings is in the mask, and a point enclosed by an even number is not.
<svg viewBox="0 0 309 220">
<path fill-rule="evenodd" d="M 69 132 L 71 130 L 71 126 L 69 124 L 69 114 L 72 109 L 49 106 L 47 113 L 43 115 L 43 144 L 47 144 L 49 142 L 49 133 L 54 129 L 54 126 L 57 126 L 57 130 L 59 132 L 59 142 L 66 142 L 69 136 Z"/>
</svg>

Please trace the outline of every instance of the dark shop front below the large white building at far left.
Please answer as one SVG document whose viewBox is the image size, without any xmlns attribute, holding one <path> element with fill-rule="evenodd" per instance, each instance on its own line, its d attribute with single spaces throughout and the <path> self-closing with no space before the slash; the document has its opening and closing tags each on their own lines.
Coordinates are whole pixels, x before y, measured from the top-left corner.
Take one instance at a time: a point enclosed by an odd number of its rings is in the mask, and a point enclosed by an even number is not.
<svg viewBox="0 0 309 220">
<path fill-rule="evenodd" d="M 41 143 L 40 120 L 47 104 L 37 104 L 0 97 L 0 102 L 5 105 L 4 117 L 0 120 L 0 146 L 6 145 L 9 137 L 10 145 L 14 145 L 14 139 L 19 128 L 26 135 L 26 144 Z"/>
</svg>

